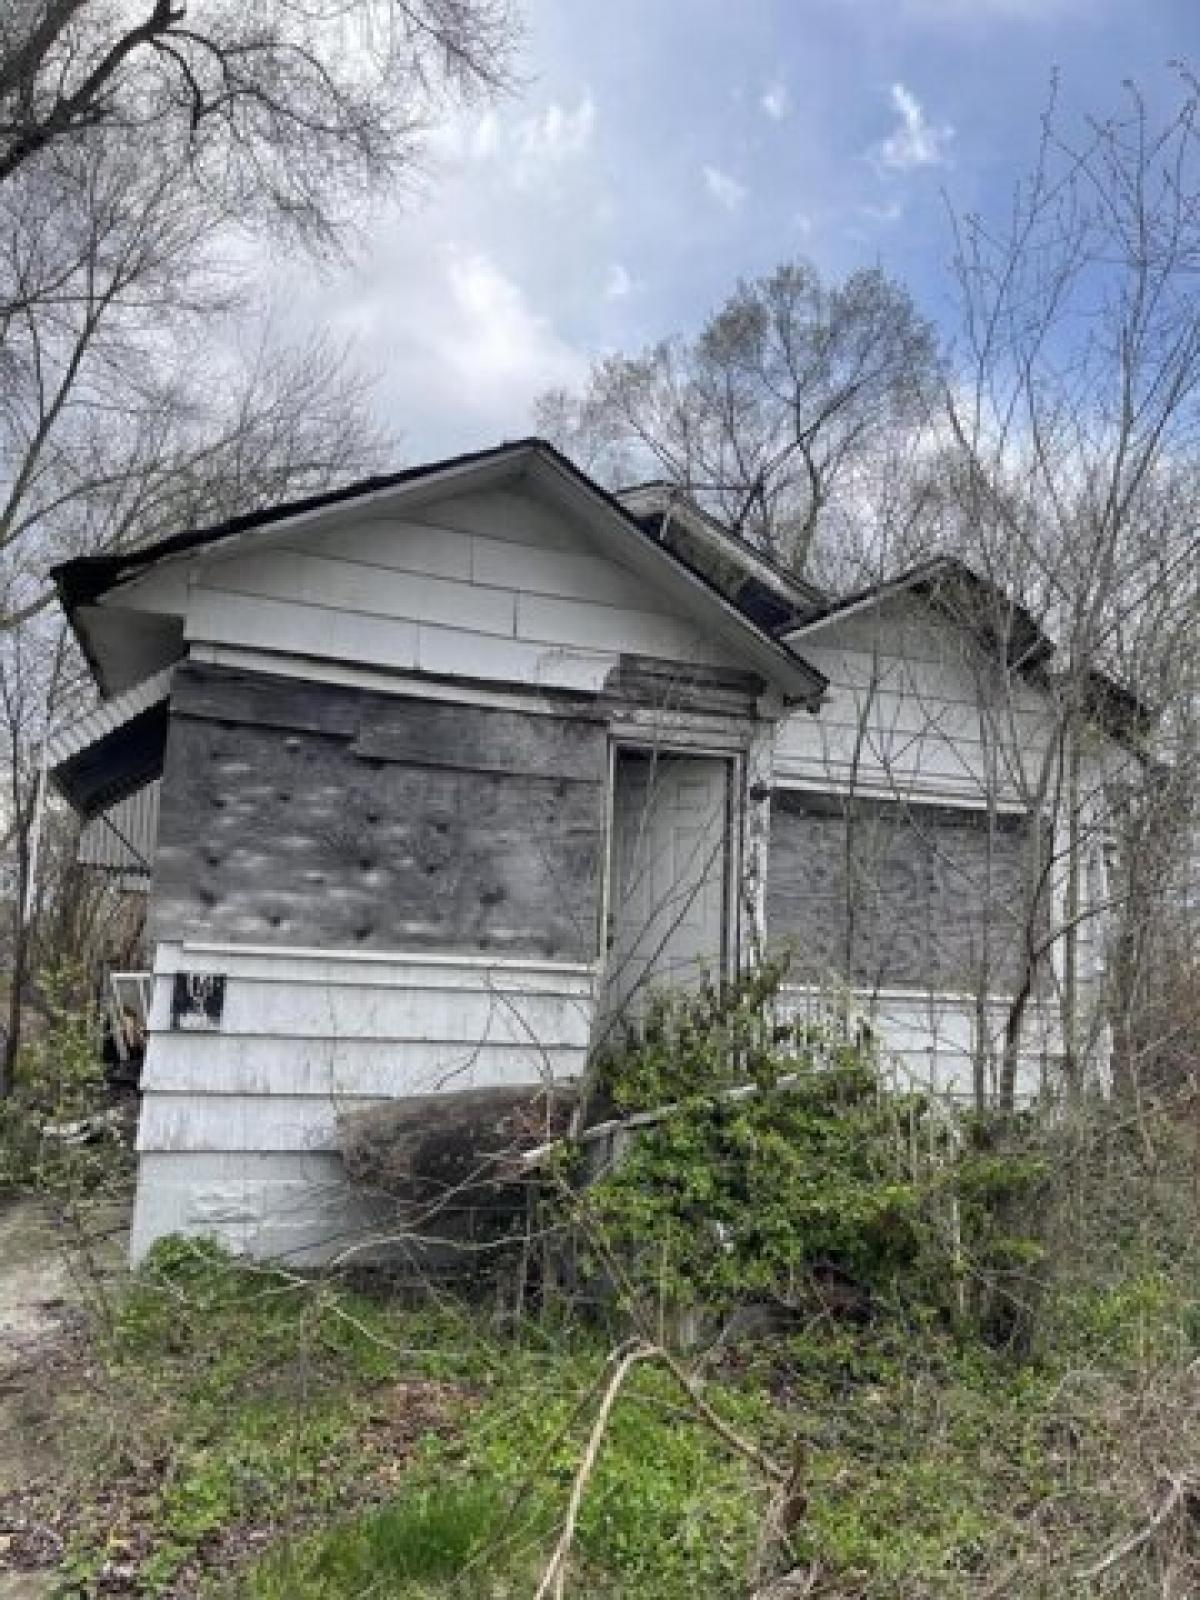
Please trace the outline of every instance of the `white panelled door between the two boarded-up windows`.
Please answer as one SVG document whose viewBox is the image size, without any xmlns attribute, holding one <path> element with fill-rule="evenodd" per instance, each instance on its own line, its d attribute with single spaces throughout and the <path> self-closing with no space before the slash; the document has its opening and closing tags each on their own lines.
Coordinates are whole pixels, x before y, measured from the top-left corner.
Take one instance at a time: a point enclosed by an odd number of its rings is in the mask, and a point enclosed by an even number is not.
<svg viewBox="0 0 1200 1600">
<path fill-rule="evenodd" d="M 653 987 L 720 976 L 728 952 L 730 784 L 722 757 L 619 750 L 613 787 L 606 1022 Z"/>
</svg>

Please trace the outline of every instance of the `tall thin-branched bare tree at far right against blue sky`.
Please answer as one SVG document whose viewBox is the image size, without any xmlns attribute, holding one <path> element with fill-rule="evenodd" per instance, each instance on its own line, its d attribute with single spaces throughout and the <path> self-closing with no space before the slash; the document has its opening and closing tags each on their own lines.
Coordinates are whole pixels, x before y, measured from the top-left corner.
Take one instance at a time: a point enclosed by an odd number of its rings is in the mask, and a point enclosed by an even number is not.
<svg viewBox="0 0 1200 1600">
<path fill-rule="evenodd" d="M 1117 786 L 1128 797 L 1163 782 L 1158 763 L 1094 749 L 1096 714 L 1110 726 L 1123 722 L 1126 749 L 1141 744 L 1146 757 L 1170 742 L 1178 760 L 1174 734 L 1194 726 L 1200 130 L 1197 85 L 1184 75 L 1181 88 L 1162 123 L 1131 90 L 1122 115 L 1078 136 L 1051 106 L 1040 160 L 1006 227 L 958 227 L 963 338 L 947 405 L 958 504 L 976 565 L 1058 643 L 1042 678 L 1053 722 L 1022 776 L 1061 848 L 1058 971 L 1070 1078 L 1088 850 Z M 1123 814 L 1178 827 L 1181 800 L 1176 792 L 1166 810 L 1126 805 Z M 1138 848 L 1146 845 L 1142 837 Z M 1133 846 L 1131 835 L 1123 848 Z M 1120 920 L 1133 907 L 1109 901 L 1120 947 Z M 1128 995 L 1128 979 L 1123 987 Z"/>
</svg>

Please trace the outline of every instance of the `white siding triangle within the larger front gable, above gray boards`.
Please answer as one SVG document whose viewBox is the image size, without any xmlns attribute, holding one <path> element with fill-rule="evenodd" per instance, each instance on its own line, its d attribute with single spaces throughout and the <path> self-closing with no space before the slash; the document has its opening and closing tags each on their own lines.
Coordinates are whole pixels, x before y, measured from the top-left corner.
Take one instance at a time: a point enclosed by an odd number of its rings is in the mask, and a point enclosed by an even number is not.
<svg viewBox="0 0 1200 1600">
<path fill-rule="evenodd" d="M 123 586 L 114 605 L 184 611 L 189 642 L 392 670 L 595 690 L 621 653 L 722 666 L 728 645 L 533 498 L 491 490 L 419 520 L 282 531 Z"/>
</svg>

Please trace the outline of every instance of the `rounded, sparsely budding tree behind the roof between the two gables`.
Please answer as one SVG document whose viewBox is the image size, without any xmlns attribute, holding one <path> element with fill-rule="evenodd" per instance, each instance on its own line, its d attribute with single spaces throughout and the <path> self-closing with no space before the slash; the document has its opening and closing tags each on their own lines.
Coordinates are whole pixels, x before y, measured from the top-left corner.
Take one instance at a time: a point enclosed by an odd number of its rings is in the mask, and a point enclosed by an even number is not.
<svg viewBox="0 0 1200 1600">
<path fill-rule="evenodd" d="M 877 269 L 806 261 L 742 282 L 690 339 L 595 365 L 542 397 L 542 432 L 603 477 L 659 475 L 802 571 L 835 496 L 896 424 L 925 416 L 936 339 Z"/>
</svg>

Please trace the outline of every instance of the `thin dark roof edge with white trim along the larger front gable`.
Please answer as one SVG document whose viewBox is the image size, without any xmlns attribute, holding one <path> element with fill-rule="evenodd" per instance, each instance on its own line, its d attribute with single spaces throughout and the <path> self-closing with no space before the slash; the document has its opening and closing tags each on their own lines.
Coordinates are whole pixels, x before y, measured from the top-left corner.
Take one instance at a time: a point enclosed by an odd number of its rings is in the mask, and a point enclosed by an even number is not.
<svg viewBox="0 0 1200 1600">
<path fill-rule="evenodd" d="M 310 512 L 350 504 L 371 494 L 403 488 L 410 483 L 432 482 L 440 475 L 458 474 L 462 469 L 485 466 L 488 462 L 499 462 L 506 456 L 544 459 L 550 466 L 557 467 L 558 472 L 562 472 L 578 490 L 602 502 L 613 515 L 619 517 L 626 526 L 634 530 L 638 539 L 645 541 L 648 547 L 659 550 L 664 560 L 674 565 L 680 573 L 685 573 L 694 584 L 701 586 L 733 621 L 758 640 L 760 646 L 770 650 L 781 666 L 786 666 L 792 674 L 798 670 L 808 683 L 808 688 L 800 699 L 808 704 L 810 709 L 814 709 L 819 704 L 829 686 L 824 674 L 821 674 L 811 662 L 805 661 L 803 656 L 800 656 L 786 640 L 776 638 L 770 629 L 762 627 L 754 621 L 754 618 L 747 616 L 747 613 L 734 605 L 728 595 L 725 595 L 714 582 L 710 582 L 710 579 L 704 576 L 704 573 L 696 571 L 675 550 L 661 544 L 650 533 L 646 533 L 640 520 L 632 510 L 621 504 L 616 494 L 605 490 L 600 483 L 576 467 L 576 464 L 560 450 L 536 435 L 510 440 L 502 445 L 493 445 L 486 450 L 469 451 L 459 456 L 448 456 L 440 461 L 405 467 L 398 472 L 360 478 L 355 483 L 347 483 L 336 490 L 326 490 L 320 494 L 309 494 L 301 499 L 283 501 L 278 506 L 267 506 L 254 512 L 245 512 L 208 528 L 194 528 L 184 533 L 171 534 L 166 539 L 158 539 L 154 544 L 147 544 L 141 549 L 128 550 L 120 555 L 74 557 L 72 560 L 61 562 L 58 566 L 51 568 L 50 576 L 54 582 L 59 605 L 70 622 L 88 667 L 96 682 L 101 683 L 102 674 L 99 672 L 98 662 L 91 654 L 86 634 L 78 626 L 78 611 L 82 606 L 96 603 L 102 595 L 115 589 L 117 584 L 134 576 L 141 576 L 158 562 L 168 560 L 174 555 L 189 555 L 194 550 L 208 549 L 243 533 L 269 528 Z"/>
</svg>

